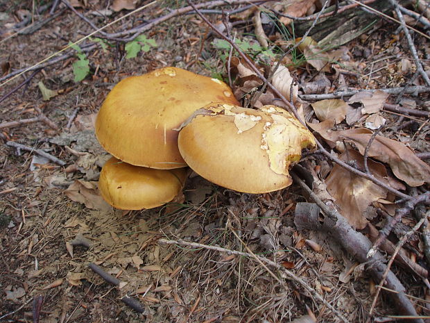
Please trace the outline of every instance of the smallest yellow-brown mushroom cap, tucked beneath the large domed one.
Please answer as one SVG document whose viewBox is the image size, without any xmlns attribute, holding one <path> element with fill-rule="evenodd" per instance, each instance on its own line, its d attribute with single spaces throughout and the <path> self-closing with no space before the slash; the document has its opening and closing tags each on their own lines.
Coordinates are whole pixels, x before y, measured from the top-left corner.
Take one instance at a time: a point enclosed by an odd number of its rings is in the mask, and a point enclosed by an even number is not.
<svg viewBox="0 0 430 323">
<path fill-rule="evenodd" d="M 98 190 L 107 203 L 120 210 L 155 208 L 171 201 L 182 189 L 187 169 L 152 169 L 117 158 L 101 169 Z"/>
</svg>

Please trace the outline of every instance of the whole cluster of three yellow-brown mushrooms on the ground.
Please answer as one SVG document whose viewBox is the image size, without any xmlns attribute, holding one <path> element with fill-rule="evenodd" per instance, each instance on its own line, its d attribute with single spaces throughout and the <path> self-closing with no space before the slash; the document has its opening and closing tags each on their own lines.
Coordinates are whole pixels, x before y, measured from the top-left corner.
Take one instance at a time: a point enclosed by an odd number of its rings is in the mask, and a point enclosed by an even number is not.
<svg viewBox="0 0 430 323">
<path fill-rule="evenodd" d="M 187 165 L 239 192 L 285 188 L 302 149 L 316 146 L 284 109 L 242 108 L 225 83 L 177 67 L 119 82 L 98 113 L 96 136 L 114 156 L 101 171 L 101 194 L 128 210 L 171 201 Z"/>
</svg>

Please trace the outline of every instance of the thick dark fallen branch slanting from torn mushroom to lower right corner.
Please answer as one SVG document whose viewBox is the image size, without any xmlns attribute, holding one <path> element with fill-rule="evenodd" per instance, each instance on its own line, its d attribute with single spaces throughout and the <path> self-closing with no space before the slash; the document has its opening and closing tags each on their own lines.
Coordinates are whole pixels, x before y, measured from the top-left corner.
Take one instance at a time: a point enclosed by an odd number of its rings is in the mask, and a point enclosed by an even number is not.
<svg viewBox="0 0 430 323">
<path fill-rule="evenodd" d="M 360 263 L 368 263 L 366 270 L 372 274 L 377 280 L 381 281 L 382 276 L 387 268 L 384 264 L 384 256 L 378 251 L 373 256 L 371 262 L 367 258 L 367 253 L 372 246 L 371 242 L 363 234 L 355 231 L 350 224 L 347 223 L 331 201 L 321 201 L 320 198 L 312 192 L 312 190 L 302 181 L 296 174 L 291 172 L 293 180 L 298 183 L 300 187 L 309 194 L 309 197 L 319 206 L 324 213 L 324 217 L 320 217 L 319 212 L 313 214 L 300 213 L 300 208 L 296 206 L 297 212 L 295 213 L 295 223 L 301 229 L 311 229 L 316 231 L 329 232 L 330 236 L 338 242 L 348 254 L 353 256 Z M 399 312 L 411 317 L 418 317 L 418 314 L 413 307 L 413 304 L 405 295 L 405 288 L 402 283 L 397 279 L 393 272 L 388 271 L 386 277 L 386 287 L 396 292 L 389 293 L 388 296 L 394 301 L 399 308 Z M 415 318 L 411 320 L 415 323 L 424 323 L 423 320 Z"/>
</svg>

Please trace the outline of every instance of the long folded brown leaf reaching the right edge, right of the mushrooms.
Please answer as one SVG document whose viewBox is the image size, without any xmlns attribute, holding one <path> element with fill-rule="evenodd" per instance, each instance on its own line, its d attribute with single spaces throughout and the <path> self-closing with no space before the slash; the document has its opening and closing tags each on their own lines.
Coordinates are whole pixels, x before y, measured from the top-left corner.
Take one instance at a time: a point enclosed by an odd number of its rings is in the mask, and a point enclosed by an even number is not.
<svg viewBox="0 0 430 323">
<path fill-rule="evenodd" d="M 364 155 L 372 132 L 341 131 L 339 135 L 339 138 L 355 144 L 360 154 Z M 402 142 L 377 135 L 370 146 L 368 156 L 390 165 L 397 179 L 405 181 L 410 186 L 420 186 L 424 182 L 430 183 L 430 166 L 415 156 L 413 151 Z"/>
</svg>

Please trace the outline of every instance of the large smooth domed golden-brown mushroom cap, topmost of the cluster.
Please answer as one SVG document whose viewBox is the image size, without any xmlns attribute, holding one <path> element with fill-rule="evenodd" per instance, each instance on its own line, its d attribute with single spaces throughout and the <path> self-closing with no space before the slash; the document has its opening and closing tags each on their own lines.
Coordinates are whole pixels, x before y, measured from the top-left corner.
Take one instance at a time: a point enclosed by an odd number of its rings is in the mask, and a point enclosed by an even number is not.
<svg viewBox="0 0 430 323">
<path fill-rule="evenodd" d="M 164 67 L 124 78 L 107 94 L 96 119 L 101 146 L 126 163 L 157 169 L 186 167 L 177 128 L 211 102 L 239 104 L 223 82 Z"/>
</svg>

